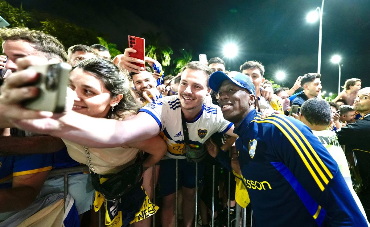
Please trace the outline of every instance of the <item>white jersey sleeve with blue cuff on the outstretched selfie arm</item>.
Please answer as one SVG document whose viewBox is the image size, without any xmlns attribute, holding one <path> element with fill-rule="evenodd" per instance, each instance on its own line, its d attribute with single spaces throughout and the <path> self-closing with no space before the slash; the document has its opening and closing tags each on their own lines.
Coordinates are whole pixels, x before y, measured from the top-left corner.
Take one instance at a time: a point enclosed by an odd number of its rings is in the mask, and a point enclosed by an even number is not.
<svg viewBox="0 0 370 227">
<path fill-rule="evenodd" d="M 176 100 L 178 101 L 178 104 L 175 102 L 173 106 L 180 105 L 180 101 L 178 99 Z M 166 117 L 168 116 L 167 107 L 168 103 L 165 103 L 163 100 L 157 100 L 155 102 L 146 104 L 139 110 L 139 112 L 145 112 L 152 116 L 154 120 L 157 121 L 160 131 L 163 131 L 163 129 L 165 128 L 164 124 L 166 122 Z"/>
</svg>

